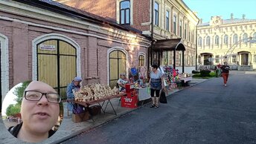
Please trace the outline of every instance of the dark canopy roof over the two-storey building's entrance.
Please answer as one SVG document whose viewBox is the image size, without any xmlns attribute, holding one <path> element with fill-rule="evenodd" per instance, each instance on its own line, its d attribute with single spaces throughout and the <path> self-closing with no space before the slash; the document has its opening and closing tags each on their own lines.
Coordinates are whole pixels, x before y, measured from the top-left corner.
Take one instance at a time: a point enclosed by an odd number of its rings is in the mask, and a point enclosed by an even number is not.
<svg viewBox="0 0 256 144">
<path fill-rule="evenodd" d="M 162 39 L 157 40 L 153 50 L 154 51 L 171 51 L 171 50 L 185 50 L 185 46 L 181 42 L 182 39 Z"/>
</svg>

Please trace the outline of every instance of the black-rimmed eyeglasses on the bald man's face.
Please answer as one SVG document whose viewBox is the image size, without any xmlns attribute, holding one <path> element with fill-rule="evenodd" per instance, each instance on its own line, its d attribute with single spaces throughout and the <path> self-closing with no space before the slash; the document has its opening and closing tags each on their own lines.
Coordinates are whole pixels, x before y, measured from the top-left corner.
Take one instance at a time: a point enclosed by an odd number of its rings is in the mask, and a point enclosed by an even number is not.
<svg viewBox="0 0 256 144">
<path fill-rule="evenodd" d="M 48 102 L 60 103 L 61 98 L 59 94 L 56 93 L 41 93 L 40 91 L 25 91 L 25 99 L 30 101 L 39 101 L 42 96 L 45 95 Z"/>
</svg>

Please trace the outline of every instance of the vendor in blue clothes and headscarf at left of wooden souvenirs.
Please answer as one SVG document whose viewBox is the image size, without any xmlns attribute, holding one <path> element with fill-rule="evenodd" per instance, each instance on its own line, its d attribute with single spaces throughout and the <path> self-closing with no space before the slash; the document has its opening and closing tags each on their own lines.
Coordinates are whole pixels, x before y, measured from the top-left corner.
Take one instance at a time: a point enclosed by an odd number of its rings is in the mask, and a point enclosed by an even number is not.
<svg viewBox="0 0 256 144">
<path fill-rule="evenodd" d="M 68 100 L 74 100 L 74 92 L 80 90 L 80 82 L 82 82 L 82 78 L 80 76 L 75 77 L 72 82 L 68 85 L 66 94 Z M 68 111 L 73 111 L 73 104 L 68 102 Z"/>
</svg>

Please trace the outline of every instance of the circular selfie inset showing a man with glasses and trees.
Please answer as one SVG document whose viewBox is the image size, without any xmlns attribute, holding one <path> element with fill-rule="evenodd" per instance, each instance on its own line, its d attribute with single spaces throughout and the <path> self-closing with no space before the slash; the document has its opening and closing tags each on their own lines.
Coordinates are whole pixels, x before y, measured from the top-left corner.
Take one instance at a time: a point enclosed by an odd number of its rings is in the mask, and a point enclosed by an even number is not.
<svg viewBox="0 0 256 144">
<path fill-rule="evenodd" d="M 36 94 L 40 95 L 35 98 Z M 13 137 L 29 143 L 47 140 L 63 122 L 63 103 L 55 99 L 60 99 L 60 95 L 45 82 L 27 81 L 15 85 L 4 96 L 1 108 L 7 131 Z M 25 128 L 22 128 L 23 126 Z M 41 133 L 44 137 L 38 137 L 37 140 L 21 137 L 21 129 L 25 130 L 26 134 L 31 134 L 31 137 L 36 133 Z"/>
</svg>

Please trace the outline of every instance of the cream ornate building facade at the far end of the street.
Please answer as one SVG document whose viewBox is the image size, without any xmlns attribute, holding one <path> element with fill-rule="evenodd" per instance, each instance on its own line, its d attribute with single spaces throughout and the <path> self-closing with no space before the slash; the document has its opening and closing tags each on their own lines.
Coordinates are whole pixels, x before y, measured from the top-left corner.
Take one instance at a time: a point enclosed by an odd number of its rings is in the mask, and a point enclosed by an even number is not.
<svg viewBox="0 0 256 144">
<path fill-rule="evenodd" d="M 199 65 L 218 65 L 227 61 L 233 69 L 256 70 L 256 19 L 222 19 L 197 27 L 197 62 Z M 209 59 L 212 58 L 212 59 Z M 210 61 L 209 61 L 210 60 Z"/>
</svg>

